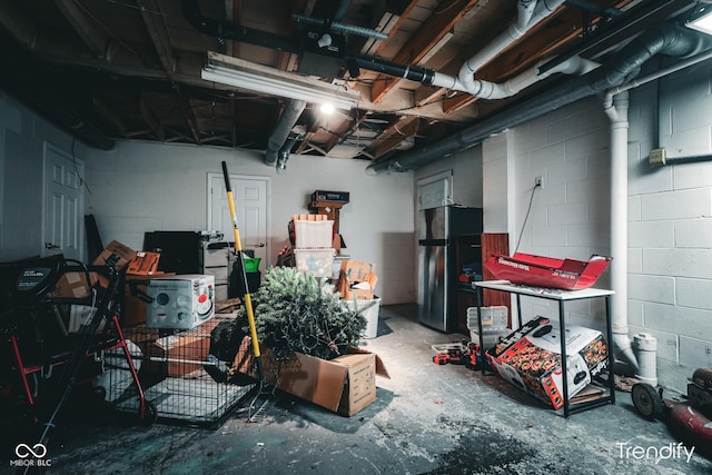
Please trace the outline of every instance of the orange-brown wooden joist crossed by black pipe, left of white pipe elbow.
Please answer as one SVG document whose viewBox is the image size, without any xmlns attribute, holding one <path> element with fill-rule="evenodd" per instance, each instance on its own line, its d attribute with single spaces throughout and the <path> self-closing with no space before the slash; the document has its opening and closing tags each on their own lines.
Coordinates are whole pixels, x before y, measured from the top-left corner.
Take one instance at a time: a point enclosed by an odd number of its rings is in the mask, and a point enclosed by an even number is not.
<svg viewBox="0 0 712 475">
<path fill-rule="evenodd" d="M 443 7 L 444 11 L 433 12 L 411 40 L 400 48 L 393 61 L 402 65 L 416 65 L 447 34 L 453 27 L 477 3 L 478 0 L 455 0 Z M 379 75 L 370 89 L 372 102 L 379 102 L 399 82 L 399 78 Z"/>
</svg>

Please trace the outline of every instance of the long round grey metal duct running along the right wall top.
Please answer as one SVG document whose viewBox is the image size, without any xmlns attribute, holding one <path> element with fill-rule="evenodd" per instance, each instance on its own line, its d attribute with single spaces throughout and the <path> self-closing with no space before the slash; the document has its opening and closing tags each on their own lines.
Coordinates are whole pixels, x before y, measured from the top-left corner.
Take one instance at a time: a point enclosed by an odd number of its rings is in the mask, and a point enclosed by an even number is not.
<svg viewBox="0 0 712 475">
<path fill-rule="evenodd" d="M 485 120 L 435 144 L 395 158 L 370 164 L 366 167 L 366 172 L 374 175 L 387 170 L 413 170 L 475 146 L 493 133 L 502 132 L 580 99 L 619 86 L 654 55 L 688 57 L 710 48 L 712 48 L 712 38 L 672 22 L 663 23 L 659 28 L 647 30 L 639 36 L 614 55 L 606 65 L 585 76 L 576 77 L 563 86 L 543 91 L 511 108 L 493 113 Z"/>
</svg>

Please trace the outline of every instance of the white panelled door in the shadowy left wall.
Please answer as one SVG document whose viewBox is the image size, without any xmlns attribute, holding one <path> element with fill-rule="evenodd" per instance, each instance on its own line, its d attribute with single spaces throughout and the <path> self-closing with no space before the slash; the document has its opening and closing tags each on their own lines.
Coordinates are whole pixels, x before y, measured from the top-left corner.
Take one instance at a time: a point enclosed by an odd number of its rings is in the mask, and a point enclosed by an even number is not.
<svg viewBox="0 0 712 475">
<path fill-rule="evenodd" d="M 83 261 L 83 161 L 44 142 L 42 256 Z"/>
</svg>

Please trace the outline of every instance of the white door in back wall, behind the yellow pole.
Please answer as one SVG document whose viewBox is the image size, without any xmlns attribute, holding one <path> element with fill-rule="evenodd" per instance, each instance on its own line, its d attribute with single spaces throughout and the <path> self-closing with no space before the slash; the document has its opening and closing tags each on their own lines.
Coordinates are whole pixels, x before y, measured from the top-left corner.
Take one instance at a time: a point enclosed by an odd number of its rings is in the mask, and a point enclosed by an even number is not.
<svg viewBox="0 0 712 475">
<path fill-rule="evenodd" d="M 230 187 L 243 250 L 254 250 L 255 257 L 261 259 L 259 267 L 264 271 L 268 265 L 269 254 L 267 243 L 269 179 L 230 175 Z M 225 235 L 225 240 L 234 241 L 233 219 L 222 175 L 208 174 L 208 229 L 220 231 Z"/>
</svg>

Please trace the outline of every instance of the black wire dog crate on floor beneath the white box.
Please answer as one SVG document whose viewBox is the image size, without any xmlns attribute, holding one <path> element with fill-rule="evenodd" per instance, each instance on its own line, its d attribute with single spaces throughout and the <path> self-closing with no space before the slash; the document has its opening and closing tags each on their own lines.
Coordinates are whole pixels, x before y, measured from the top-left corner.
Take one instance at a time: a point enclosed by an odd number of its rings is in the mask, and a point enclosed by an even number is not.
<svg viewBox="0 0 712 475">
<path fill-rule="evenodd" d="M 226 318 L 216 316 L 190 330 L 147 328 L 144 324 L 126 329 L 145 397 L 159 418 L 210 425 L 255 387 L 254 383 L 239 386 L 228 382 L 227 362 L 210 354 L 211 331 Z M 119 410 L 136 410 L 136 399 L 126 397 L 131 390 L 126 368 L 116 356 L 105 355 L 107 399 L 121 399 L 116 404 Z"/>
</svg>

